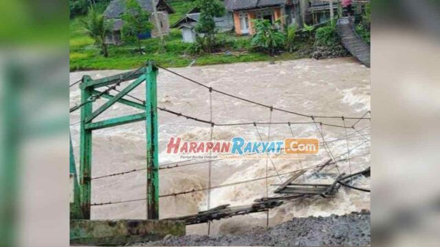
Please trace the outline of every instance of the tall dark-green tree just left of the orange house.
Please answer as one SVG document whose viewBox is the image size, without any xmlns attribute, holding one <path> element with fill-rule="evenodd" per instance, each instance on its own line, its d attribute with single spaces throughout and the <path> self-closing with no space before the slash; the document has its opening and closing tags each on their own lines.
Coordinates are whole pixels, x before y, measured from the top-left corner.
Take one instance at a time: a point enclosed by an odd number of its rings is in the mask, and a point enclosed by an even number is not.
<svg viewBox="0 0 440 247">
<path fill-rule="evenodd" d="M 195 32 L 202 34 L 206 40 L 206 51 L 211 52 L 215 44 L 215 21 L 214 17 L 225 14 L 225 7 L 218 0 L 196 0 L 195 5 L 200 10 L 200 17 L 195 27 Z"/>
</svg>

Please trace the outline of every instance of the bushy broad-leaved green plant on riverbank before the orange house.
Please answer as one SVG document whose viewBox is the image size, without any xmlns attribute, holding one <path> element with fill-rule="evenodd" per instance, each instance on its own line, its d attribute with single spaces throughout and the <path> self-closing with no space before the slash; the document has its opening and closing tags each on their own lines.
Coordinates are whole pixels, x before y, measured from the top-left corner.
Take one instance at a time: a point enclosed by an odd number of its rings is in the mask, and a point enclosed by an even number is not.
<svg viewBox="0 0 440 247">
<path fill-rule="evenodd" d="M 281 19 L 275 21 L 274 25 L 265 19 L 255 19 L 252 22 L 255 27 L 255 34 L 252 36 L 251 44 L 273 56 L 276 48 L 282 47 L 285 43 L 284 34 L 276 27 L 281 25 Z"/>
</svg>

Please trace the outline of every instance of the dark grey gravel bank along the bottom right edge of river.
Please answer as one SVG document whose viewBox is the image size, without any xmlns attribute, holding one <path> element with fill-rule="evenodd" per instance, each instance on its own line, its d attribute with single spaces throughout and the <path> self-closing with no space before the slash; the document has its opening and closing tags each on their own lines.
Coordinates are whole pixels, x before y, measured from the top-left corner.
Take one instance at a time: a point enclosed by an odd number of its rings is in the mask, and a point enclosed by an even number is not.
<svg viewBox="0 0 440 247">
<path fill-rule="evenodd" d="M 278 226 L 241 235 L 166 237 L 140 246 L 369 246 L 370 212 L 294 218 Z"/>
</svg>

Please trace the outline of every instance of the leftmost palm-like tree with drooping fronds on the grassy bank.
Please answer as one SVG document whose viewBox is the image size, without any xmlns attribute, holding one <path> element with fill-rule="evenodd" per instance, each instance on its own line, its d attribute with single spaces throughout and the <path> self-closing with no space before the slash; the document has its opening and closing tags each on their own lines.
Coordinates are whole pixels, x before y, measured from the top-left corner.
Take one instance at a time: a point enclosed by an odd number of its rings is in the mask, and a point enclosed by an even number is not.
<svg viewBox="0 0 440 247">
<path fill-rule="evenodd" d="M 113 28 L 113 22 L 104 19 L 102 14 L 96 12 L 94 8 L 89 8 L 87 18 L 83 21 L 87 35 L 95 40 L 95 44 L 101 48 L 105 58 L 109 56 L 108 45 L 105 43 L 105 36 Z"/>
</svg>

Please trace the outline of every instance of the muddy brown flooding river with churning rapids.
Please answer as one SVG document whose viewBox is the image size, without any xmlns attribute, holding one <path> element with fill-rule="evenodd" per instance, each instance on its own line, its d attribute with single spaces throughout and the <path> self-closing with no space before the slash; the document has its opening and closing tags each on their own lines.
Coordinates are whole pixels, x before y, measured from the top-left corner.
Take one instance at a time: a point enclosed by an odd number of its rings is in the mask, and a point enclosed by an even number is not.
<svg viewBox="0 0 440 247">
<path fill-rule="evenodd" d="M 362 117 L 370 110 L 370 69 L 353 58 L 328 60 L 292 60 L 269 64 L 251 62 L 221 64 L 206 67 L 172 69 L 177 73 L 192 78 L 214 89 L 252 99 L 262 104 L 292 110 L 307 115 L 331 115 Z M 102 78 L 124 71 L 81 71 L 70 74 L 70 82 L 76 82 L 83 75 Z M 122 89 L 122 84 L 118 89 Z M 130 95 L 145 99 L 145 86 L 142 84 Z M 199 119 L 210 119 L 209 91 L 206 88 L 188 82 L 172 73 L 159 70 L 157 78 L 158 105 Z M 129 98 L 127 98 L 129 99 Z M 70 105 L 80 102 L 78 86 L 70 91 Z M 103 104 L 105 99 L 98 99 L 94 107 Z M 95 121 L 109 117 L 120 117 L 139 113 L 139 110 L 115 104 Z M 176 117 L 159 111 L 159 163 L 175 163 L 179 155 L 166 154 L 166 143 L 170 137 L 181 137 L 185 141 L 209 141 L 210 126 L 207 124 Z M 369 116 L 369 115 L 367 115 Z M 78 165 L 80 111 L 71 114 L 71 133 L 74 152 Z M 239 122 L 268 122 L 270 110 L 261 106 L 233 99 L 219 93 L 212 93 L 212 121 L 219 124 Z M 309 122 L 311 119 L 289 113 L 274 111 L 271 122 Z M 326 124 L 341 126 L 341 119 L 318 119 Z M 356 120 L 346 120 L 347 126 Z M 348 148 L 350 156 L 358 156 L 349 161 L 338 162 L 340 172 L 347 174 L 358 172 L 370 166 L 369 133 L 370 121 L 362 120 L 356 124 L 359 131 L 349 129 Z M 269 126 L 258 126 L 263 139 L 268 138 Z M 296 137 L 319 138 L 320 133 L 313 124 L 292 126 Z M 323 126 L 325 141 L 329 142 L 329 151 L 333 156 L 347 158 L 347 141 L 343 128 Z M 362 135 L 361 135 L 362 134 Z M 256 128 L 248 126 L 215 126 L 214 141 L 230 141 L 232 137 L 244 137 L 250 141 L 259 141 Z M 287 124 L 272 124 L 270 140 L 283 140 L 292 137 Z M 103 130 L 93 134 L 92 177 L 104 176 L 146 166 L 145 123 L 143 121 Z M 339 141 L 334 141 L 343 139 Z M 321 140 L 322 141 L 322 140 Z M 342 155 L 342 156 L 341 156 Z M 317 155 L 307 156 L 301 163 L 295 160 L 274 160 L 269 163 L 269 175 L 289 172 L 303 167 L 320 165 L 329 160 L 329 152 L 320 148 Z M 235 183 L 265 176 L 265 160 L 223 160 L 212 163 L 212 186 Z M 326 167 L 324 176 L 310 176 L 311 171 L 298 178 L 298 183 L 331 183 L 338 170 L 335 166 Z M 282 176 L 281 180 L 288 178 Z M 159 172 L 160 194 L 175 193 L 206 187 L 208 183 L 208 163 L 190 165 L 174 169 L 162 169 Z M 268 180 L 269 196 L 273 196 L 274 184 L 280 178 Z M 366 187 L 369 178 L 357 178 L 353 185 Z M 239 206 L 252 203 L 265 196 L 265 180 L 244 183 L 231 187 L 212 189 L 210 207 L 221 204 Z M 133 172 L 123 176 L 96 179 L 92 181 L 92 203 L 118 202 L 146 197 L 146 172 Z M 189 193 L 176 197 L 161 198 L 160 218 L 176 217 L 197 213 L 207 208 L 207 192 Z M 333 198 L 308 198 L 283 204 L 270 211 L 270 225 L 274 226 L 292 217 L 343 215 L 352 211 L 370 209 L 370 195 L 362 191 L 340 188 Z M 146 202 L 129 202 L 92 207 L 91 218 L 98 219 L 144 219 Z M 212 223 L 212 234 L 225 235 L 240 233 L 253 226 L 265 226 L 266 213 L 255 213 L 219 220 Z M 187 227 L 187 234 L 206 234 L 206 224 Z"/>
</svg>

